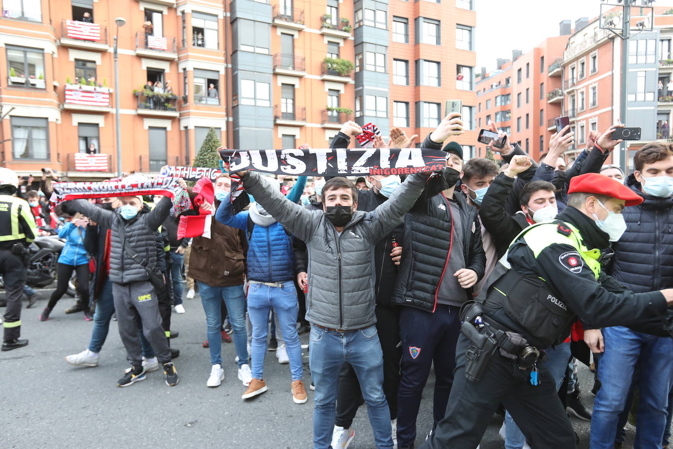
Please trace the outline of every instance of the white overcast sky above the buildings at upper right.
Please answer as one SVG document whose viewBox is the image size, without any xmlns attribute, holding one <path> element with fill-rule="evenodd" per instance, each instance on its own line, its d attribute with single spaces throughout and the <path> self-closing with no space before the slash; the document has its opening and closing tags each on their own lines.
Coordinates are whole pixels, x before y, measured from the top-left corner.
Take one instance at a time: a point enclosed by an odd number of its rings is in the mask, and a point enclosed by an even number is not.
<svg viewBox="0 0 673 449">
<path fill-rule="evenodd" d="M 545 38 L 559 35 L 559 22 L 600 13 L 600 0 L 474 0 L 476 6 L 476 73 L 495 69 L 497 58 L 511 50 L 526 53 Z M 611 1 L 610 3 L 616 3 Z M 672 5 L 673 0 L 654 3 Z"/>
</svg>

